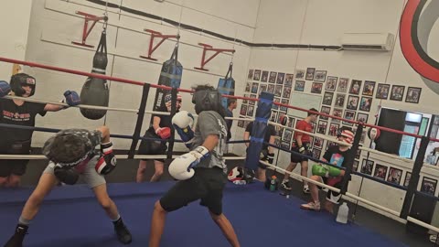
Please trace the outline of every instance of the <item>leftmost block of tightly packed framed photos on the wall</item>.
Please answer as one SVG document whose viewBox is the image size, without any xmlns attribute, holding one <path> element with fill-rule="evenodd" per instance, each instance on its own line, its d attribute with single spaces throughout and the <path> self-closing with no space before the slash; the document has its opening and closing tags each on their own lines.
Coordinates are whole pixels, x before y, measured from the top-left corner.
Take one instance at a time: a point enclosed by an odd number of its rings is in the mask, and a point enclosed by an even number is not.
<svg viewBox="0 0 439 247">
<path fill-rule="evenodd" d="M 244 97 L 257 99 L 262 91 L 268 91 L 274 94 L 273 102 L 284 104 L 290 103 L 291 91 L 293 90 L 294 73 L 270 71 L 270 70 L 249 70 L 247 82 L 244 90 Z M 242 101 L 240 117 L 254 117 L 257 104 L 254 101 Z M 274 105 L 270 121 L 279 123 L 280 118 L 286 115 L 287 107 Z M 246 128 L 250 122 L 238 121 L 238 127 Z M 293 127 L 294 117 L 289 116 L 288 126 Z M 293 140 L 293 131 L 276 128 L 275 145 L 289 149 Z"/>
</svg>

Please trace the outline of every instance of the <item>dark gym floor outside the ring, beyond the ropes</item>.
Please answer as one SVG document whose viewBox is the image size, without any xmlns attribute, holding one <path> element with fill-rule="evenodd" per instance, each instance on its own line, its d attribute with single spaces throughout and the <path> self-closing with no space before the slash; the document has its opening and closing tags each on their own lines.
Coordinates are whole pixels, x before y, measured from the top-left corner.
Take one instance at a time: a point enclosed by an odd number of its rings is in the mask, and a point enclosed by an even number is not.
<svg viewBox="0 0 439 247">
<path fill-rule="evenodd" d="M 227 164 L 229 168 L 238 166 L 243 161 L 228 161 Z M 23 187 L 33 187 L 37 184 L 38 178 L 41 172 L 46 167 L 47 162 L 44 160 L 31 160 L 27 167 L 27 174 L 22 179 Z M 152 165 L 152 164 L 151 164 Z M 107 176 L 107 182 L 109 183 L 125 183 L 133 182 L 135 179 L 135 173 L 138 166 L 137 160 L 118 160 L 118 168 L 115 170 L 117 172 Z M 154 174 L 154 166 L 148 166 L 145 177 L 151 177 Z M 269 174 L 271 175 L 270 171 Z M 172 179 L 167 171 L 165 171 L 162 177 L 163 181 Z M 302 185 L 298 181 L 293 180 L 293 191 L 291 197 L 298 199 L 303 199 L 308 201 L 310 197 L 304 195 L 302 192 Z M 146 181 L 147 182 L 147 181 Z M 281 196 L 280 196 L 281 197 Z M 322 193 L 321 198 L 323 199 L 325 195 Z M 349 205 L 349 212 L 352 213 L 352 209 L 356 207 L 355 205 Z M 327 212 L 316 212 L 316 213 L 327 213 Z M 369 209 L 357 206 L 355 223 L 359 226 L 367 227 L 373 229 L 374 231 L 380 232 L 392 240 L 402 242 L 408 246 L 434 246 L 434 243 L 428 240 L 428 234 L 415 234 L 407 231 L 406 225 L 402 224 L 396 220 L 391 220 L 383 215 L 373 212 Z"/>
</svg>

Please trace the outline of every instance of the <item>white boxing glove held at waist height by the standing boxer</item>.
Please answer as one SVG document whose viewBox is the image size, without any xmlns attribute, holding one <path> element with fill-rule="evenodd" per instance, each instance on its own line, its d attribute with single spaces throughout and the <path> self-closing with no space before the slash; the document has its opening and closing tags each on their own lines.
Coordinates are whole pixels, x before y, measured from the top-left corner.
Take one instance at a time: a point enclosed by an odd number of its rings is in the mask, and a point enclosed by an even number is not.
<svg viewBox="0 0 439 247">
<path fill-rule="evenodd" d="M 177 180 L 187 180 L 194 176 L 193 167 L 207 156 L 209 156 L 209 150 L 200 145 L 187 154 L 177 156 L 169 165 L 169 174 Z"/>
</svg>

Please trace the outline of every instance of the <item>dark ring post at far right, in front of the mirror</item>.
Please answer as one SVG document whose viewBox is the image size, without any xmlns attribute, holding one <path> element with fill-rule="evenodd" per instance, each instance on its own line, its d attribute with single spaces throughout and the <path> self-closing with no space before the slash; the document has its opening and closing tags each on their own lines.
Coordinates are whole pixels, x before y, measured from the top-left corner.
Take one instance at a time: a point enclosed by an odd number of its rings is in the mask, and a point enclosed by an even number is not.
<svg viewBox="0 0 439 247">
<path fill-rule="evenodd" d="M 421 168 L 423 167 L 423 159 L 425 157 L 425 153 L 427 151 L 427 145 L 430 142 L 430 139 L 426 136 L 421 138 L 421 145 L 419 146 L 418 155 L 414 160 L 413 169 L 412 169 L 412 177 L 410 177 L 409 186 L 407 188 L 407 193 L 405 194 L 404 204 L 402 204 L 401 209 L 401 218 L 407 220 L 407 216 L 409 215 L 410 208 L 412 207 L 413 195 L 418 187 L 419 183 L 419 174 L 421 173 Z"/>
</svg>

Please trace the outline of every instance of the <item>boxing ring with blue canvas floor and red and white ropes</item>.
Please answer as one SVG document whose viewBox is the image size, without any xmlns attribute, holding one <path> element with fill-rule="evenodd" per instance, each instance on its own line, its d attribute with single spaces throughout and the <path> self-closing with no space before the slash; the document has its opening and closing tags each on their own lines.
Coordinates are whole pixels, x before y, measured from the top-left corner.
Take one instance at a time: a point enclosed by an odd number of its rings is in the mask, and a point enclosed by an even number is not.
<svg viewBox="0 0 439 247">
<path fill-rule="evenodd" d="M 20 61 L 16 59 L 0 58 L 0 61 L 17 63 L 31 67 L 37 67 L 47 70 L 58 70 L 62 72 L 96 77 L 104 80 L 120 81 L 136 85 L 144 85 L 144 82 L 130 81 L 121 78 L 87 73 L 76 70 L 67 70 L 53 66 L 41 65 L 37 63 Z M 170 87 L 150 84 L 153 88 L 162 88 L 172 90 Z M 175 89 L 174 89 L 175 90 Z M 177 91 L 192 92 L 189 90 L 178 89 Z M 236 99 L 245 99 L 248 101 L 259 101 L 258 99 L 230 96 Z M 7 96 L 6 98 L 14 99 L 17 97 Z M 21 98 L 20 98 L 21 99 Z M 25 99 L 29 102 L 45 102 L 36 99 Z M 65 105 L 59 102 L 51 102 Z M 273 102 L 280 106 L 303 110 L 283 103 Z M 79 105 L 78 107 L 90 109 L 105 109 L 108 111 L 122 111 L 138 113 L 132 109 L 116 109 L 110 107 L 98 107 L 91 105 Z M 145 111 L 145 113 L 156 113 Z M 319 113 L 328 117 L 336 118 L 353 124 L 359 124 L 369 127 L 377 127 L 385 131 L 393 131 L 380 126 L 362 124 L 355 121 L 339 118 L 336 116 Z M 253 121 L 254 119 L 229 118 L 232 120 Z M 282 124 L 268 122 L 268 124 L 277 125 L 282 128 L 289 128 L 300 132 L 294 128 L 286 127 Z M 32 128 L 35 131 L 56 133 L 58 129 L 41 128 L 41 127 L 17 127 L 8 124 L 0 124 L 5 127 Z M 111 128 L 111 126 L 110 126 Z M 310 134 L 324 138 L 318 134 Z M 358 135 L 358 134 L 357 134 Z M 368 152 L 378 152 L 366 147 L 359 147 L 359 136 L 356 135 L 356 143 L 352 145 L 355 148 L 361 148 Z M 112 134 L 112 138 L 133 139 L 133 136 L 123 134 Z M 420 136 L 422 137 L 422 136 Z M 143 139 L 144 137 L 139 137 Z M 146 138 L 147 139 L 147 138 Z M 337 143 L 337 141 L 332 140 Z M 439 141 L 439 140 L 433 140 Z M 181 142 L 181 140 L 175 140 Z M 244 143 L 245 141 L 230 141 L 230 143 Z M 272 145 L 275 148 L 291 153 L 288 149 Z M 380 154 L 382 154 L 380 152 Z M 385 154 L 384 154 L 385 155 Z M 166 158 L 166 156 L 132 156 L 118 155 L 118 159 L 139 159 L 139 158 Z M 175 156 L 167 156 L 172 158 Z M 392 156 L 394 157 L 394 156 Z M 0 158 L 7 159 L 46 159 L 45 156 L 11 156 L 1 155 Z M 227 157 L 226 160 L 243 160 L 245 157 Z M 312 158 L 311 158 L 312 159 Z M 316 160 L 316 159 L 314 159 Z M 261 161 L 262 162 L 262 161 Z M 283 168 L 262 162 L 274 171 L 286 172 Z M 329 164 L 330 165 L 330 164 Z M 419 168 L 421 169 L 421 168 Z M 378 180 L 389 186 L 407 189 L 405 187 L 386 183 L 375 177 L 370 177 L 347 169 L 348 173 L 366 177 L 372 180 Z M 419 173 L 419 171 L 418 171 Z M 290 177 L 299 180 L 316 183 L 319 186 L 330 190 L 341 192 L 343 197 L 355 199 L 366 203 L 377 209 L 381 209 L 392 215 L 402 217 L 406 222 L 411 221 L 432 231 L 439 232 L 439 229 L 429 225 L 421 220 L 416 220 L 410 216 L 402 215 L 402 212 L 394 211 L 380 206 L 367 199 L 343 191 L 343 189 L 328 187 L 325 184 L 317 183 L 307 177 L 289 173 Z M 120 183 L 108 184 L 110 197 L 115 201 L 124 222 L 133 234 L 131 246 L 145 246 L 148 242 L 150 222 L 154 203 L 159 199 L 168 188 L 175 182 L 166 181 L 158 183 Z M 17 188 L 13 190 L 0 190 L 0 242 L 6 242 L 10 234 L 13 233 L 14 226 L 21 209 L 24 206 L 28 196 L 33 188 Z M 415 193 L 415 191 L 412 191 Z M 422 193 L 422 192 L 416 192 Z M 43 205 L 37 214 L 36 219 L 32 221 L 29 229 L 29 235 L 25 240 L 26 246 L 119 246 L 121 245 L 115 239 L 112 226 L 106 220 L 104 212 L 96 203 L 95 197 L 90 188 L 85 185 L 63 186 L 52 190 L 51 194 L 43 202 Z M 241 246 L 266 246 L 270 245 L 297 245 L 318 246 L 325 244 L 328 246 L 405 246 L 402 242 L 391 240 L 380 234 L 380 232 L 361 227 L 355 222 L 348 224 L 339 224 L 335 221 L 333 215 L 326 212 L 313 212 L 300 209 L 300 205 L 305 203 L 302 199 L 290 197 L 285 199 L 278 193 L 271 193 L 259 181 L 245 186 L 238 186 L 228 183 L 224 191 L 223 208 L 224 213 L 232 222 L 235 231 L 238 234 Z M 407 212 L 405 212 L 407 213 Z M 291 236 L 291 237 L 290 237 Z M 218 227 L 210 220 L 208 211 L 198 206 L 197 202 L 193 205 L 169 213 L 166 218 L 166 228 L 162 237 L 161 246 L 228 246 L 228 242 L 223 237 Z"/>
</svg>

